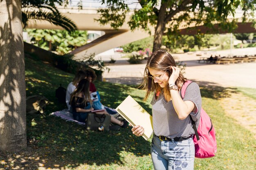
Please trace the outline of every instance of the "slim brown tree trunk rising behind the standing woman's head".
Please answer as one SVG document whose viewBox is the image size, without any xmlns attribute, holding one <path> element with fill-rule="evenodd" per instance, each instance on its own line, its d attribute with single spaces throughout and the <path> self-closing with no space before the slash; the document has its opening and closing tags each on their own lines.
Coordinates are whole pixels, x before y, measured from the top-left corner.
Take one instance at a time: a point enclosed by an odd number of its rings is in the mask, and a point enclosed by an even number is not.
<svg viewBox="0 0 256 170">
<path fill-rule="evenodd" d="M 162 45 L 162 37 L 165 31 L 165 22 L 164 18 L 166 17 L 166 3 L 162 4 L 159 9 L 159 15 L 157 18 L 157 26 L 155 27 L 155 35 L 154 35 L 154 44 L 153 44 L 153 52 L 157 49 L 160 49 Z"/>
</svg>

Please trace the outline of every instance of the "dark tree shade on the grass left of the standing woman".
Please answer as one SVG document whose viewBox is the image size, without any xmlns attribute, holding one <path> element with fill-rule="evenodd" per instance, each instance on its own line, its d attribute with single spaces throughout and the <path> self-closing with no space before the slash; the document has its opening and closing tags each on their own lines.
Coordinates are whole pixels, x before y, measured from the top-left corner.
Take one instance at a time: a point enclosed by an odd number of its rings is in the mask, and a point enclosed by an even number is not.
<svg viewBox="0 0 256 170">
<path fill-rule="evenodd" d="M 66 87 L 74 75 L 29 58 L 25 62 L 27 97 L 43 95 L 50 104 L 43 115 L 27 115 L 28 148 L 13 155 L 1 152 L 0 155 L 6 156 L 4 159 L 14 159 L 20 167 L 29 166 L 29 169 L 38 169 L 38 166 L 63 169 L 76 168 L 81 164 L 100 166 L 115 162 L 121 165 L 127 154 L 142 157 L 150 153 L 150 142 L 132 135 L 130 127 L 120 131 L 94 132 L 49 115 L 66 107 L 58 103 L 55 90 L 59 84 Z M 112 108 L 134 90 L 127 85 L 106 82 L 96 82 L 96 86 L 102 92 L 103 104 Z M 139 95 L 136 97 L 142 99 Z M 142 105 L 150 110 L 148 105 Z"/>
</svg>

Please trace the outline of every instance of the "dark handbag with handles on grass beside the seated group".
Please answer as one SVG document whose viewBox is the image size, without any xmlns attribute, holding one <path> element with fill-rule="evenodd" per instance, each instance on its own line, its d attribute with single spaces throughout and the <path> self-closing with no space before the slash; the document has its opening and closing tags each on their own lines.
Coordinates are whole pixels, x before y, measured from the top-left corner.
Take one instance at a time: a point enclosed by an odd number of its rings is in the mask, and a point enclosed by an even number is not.
<svg viewBox="0 0 256 170">
<path fill-rule="evenodd" d="M 98 113 L 89 113 L 86 120 L 86 129 L 87 130 L 106 130 L 109 131 L 110 126 L 110 115 L 98 114 Z M 103 127 L 103 128 L 102 128 Z"/>
</svg>

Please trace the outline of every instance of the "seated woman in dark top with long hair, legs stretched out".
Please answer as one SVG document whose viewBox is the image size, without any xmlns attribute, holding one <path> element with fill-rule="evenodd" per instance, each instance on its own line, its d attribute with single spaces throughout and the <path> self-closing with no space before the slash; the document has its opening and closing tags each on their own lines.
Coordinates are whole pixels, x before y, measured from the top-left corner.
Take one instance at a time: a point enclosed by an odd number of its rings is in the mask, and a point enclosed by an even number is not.
<svg viewBox="0 0 256 170">
<path fill-rule="evenodd" d="M 88 79 L 81 79 L 77 84 L 76 89 L 71 94 L 71 107 L 73 117 L 77 121 L 85 122 L 88 117 L 88 113 L 94 108 L 92 107 L 92 100 L 90 98 L 90 81 Z M 97 112 L 99 114 L 108 114 L 106 111 Z M 111 122 L 121 127 L 126 128 L 128 126 L 127 121 L 120 121 L 115 117 L 111 116 Z"/>
</svg>

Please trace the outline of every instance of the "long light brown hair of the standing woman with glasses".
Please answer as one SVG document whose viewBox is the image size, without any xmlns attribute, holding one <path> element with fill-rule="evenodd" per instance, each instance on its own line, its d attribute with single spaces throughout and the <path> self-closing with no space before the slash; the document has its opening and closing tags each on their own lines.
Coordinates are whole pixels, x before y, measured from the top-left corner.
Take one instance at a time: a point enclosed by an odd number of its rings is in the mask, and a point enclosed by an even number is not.
<svg viewBox="0 0 256 170">
<path fill-rule="evenodd" d="M 164 50 L 157 50 L 154 53 L 152 53 L 150 57 L 148 57 L 148 62 L 144 70 L 144 79 L 141 82 L 141 85 L 139 86 L 139 88 L 146 89 L 146 95 L 144 97 L 144 100 L 148 99 L 150 93 L 154 91 L 156 92 L 162 91 L 162 88 L 159 86 L 159 84 L 155 83 L 153 79 L 148 77 L 150 75 L 148 68 L 166 71 L 168 76 L 170 76 L 171 73 L 173 72 L 171 69 L 171 66 L 176 67 L 175 60 L 173 59 L 173 56 L 170 53 Z M 185 81 L 186 81 L 186 78 L 182 73 L 180 73 L 179 77 L 175 82 L 175 84 L 178 86 L 179 91 Z M 166 84 L 163 90 L 164 92 L 170 95 L 169 84 Z"/>
</svg>

